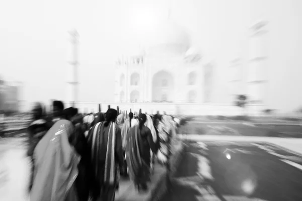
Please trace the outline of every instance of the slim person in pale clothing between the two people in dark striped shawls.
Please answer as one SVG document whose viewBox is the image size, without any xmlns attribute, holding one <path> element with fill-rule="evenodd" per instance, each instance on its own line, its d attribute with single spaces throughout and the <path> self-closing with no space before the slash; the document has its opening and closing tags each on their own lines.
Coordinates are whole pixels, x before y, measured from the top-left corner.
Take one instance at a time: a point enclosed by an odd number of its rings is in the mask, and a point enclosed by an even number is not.
<svg viewBox="0 0 302 201">
<path fill-rule="evenodd" d="M 126 139 L 130 128 L 138 125 L 138 121 L 133 119 L 133 113 L 130 111 L 129 118 L 124 122 L 122 128 L 122 146 L 123 146 L 123 156 L 124 156 L 124 166 L 122 169 L 123 175 L 127 176 L 127 160 L 126 160 Z"/>
</svg>

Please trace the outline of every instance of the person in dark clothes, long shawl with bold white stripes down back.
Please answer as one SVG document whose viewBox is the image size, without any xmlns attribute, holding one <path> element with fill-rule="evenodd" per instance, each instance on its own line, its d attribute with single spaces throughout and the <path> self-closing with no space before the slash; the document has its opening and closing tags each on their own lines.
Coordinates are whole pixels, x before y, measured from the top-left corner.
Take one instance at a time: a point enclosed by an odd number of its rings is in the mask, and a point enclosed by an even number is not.
<svg viewBox="0 0 302 201">
<path fill-rule="evenodd" d="M 97 123 L 88 139 L 93 168 L 93 200 L 114 200 L 119 184 L 119 167 L 123 166 L 121 130 L 116 125 L 117 111 L 108 109 L 105 121 Z"/>
</svg>

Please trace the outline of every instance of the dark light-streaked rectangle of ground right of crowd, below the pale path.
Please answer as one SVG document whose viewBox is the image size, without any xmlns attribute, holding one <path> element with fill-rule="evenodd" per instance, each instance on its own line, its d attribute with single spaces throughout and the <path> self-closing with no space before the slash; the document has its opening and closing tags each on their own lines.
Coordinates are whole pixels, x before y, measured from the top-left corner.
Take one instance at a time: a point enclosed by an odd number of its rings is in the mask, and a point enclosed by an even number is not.
<svg viewBox="0 0 302 201">
<path fill-rule="evenodd" d="M 302 200 L 302 158 L 268 143 L 187 143 L 162 200 Z"/>
</svg>

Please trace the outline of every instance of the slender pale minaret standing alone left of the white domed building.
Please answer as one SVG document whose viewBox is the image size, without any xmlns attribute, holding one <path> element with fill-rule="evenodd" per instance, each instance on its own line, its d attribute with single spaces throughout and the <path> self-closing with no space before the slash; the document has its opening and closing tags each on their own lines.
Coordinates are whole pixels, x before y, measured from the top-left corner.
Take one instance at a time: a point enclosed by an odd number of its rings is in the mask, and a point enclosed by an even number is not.
<svg viewBox="0 0 302 201">
<path fill-rule="evenodd" d="M 68 32 L 70 34 L 71 42 L 71 58 L 68 61 L 67 70 L 67 99 L 66 106 L 75 106 L 78 101 L 78 45 L 79 45 L 79 34 L 77 30 L 72 30 Z"/>
</svg>

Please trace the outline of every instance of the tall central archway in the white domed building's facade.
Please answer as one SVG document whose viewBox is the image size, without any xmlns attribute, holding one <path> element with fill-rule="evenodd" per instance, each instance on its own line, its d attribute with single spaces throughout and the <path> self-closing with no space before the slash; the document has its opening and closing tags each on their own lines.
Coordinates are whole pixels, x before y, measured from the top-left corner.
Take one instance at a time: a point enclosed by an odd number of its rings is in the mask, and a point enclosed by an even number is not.
<svg viewBox="0 0 302 201">
<path fill-rule="evenodd" d="M 174 80 L 167 71 L 157 72 L 152 79 L 153 102 L 174 102 Z"/>
</svg>

